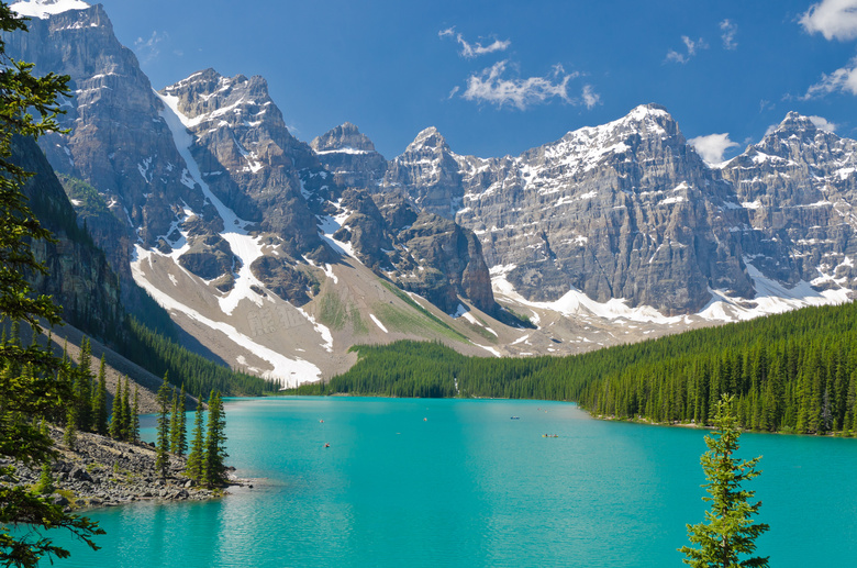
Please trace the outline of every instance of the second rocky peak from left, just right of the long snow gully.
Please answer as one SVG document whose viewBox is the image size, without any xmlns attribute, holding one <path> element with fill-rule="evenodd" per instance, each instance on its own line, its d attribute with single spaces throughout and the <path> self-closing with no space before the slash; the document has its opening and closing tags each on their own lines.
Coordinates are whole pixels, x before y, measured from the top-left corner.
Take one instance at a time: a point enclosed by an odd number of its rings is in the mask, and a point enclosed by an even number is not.
<svg viewBox="0 0 857 568">
<path fill-rule="evenodd" d="M 191 152 L 211 191 L 289 254 L 323 256 L 308 198 L 334 190 L 312 149 L 289 133 L 265 79 L 205 69 L 160 93 L 193 133 Z"/>
</svg>

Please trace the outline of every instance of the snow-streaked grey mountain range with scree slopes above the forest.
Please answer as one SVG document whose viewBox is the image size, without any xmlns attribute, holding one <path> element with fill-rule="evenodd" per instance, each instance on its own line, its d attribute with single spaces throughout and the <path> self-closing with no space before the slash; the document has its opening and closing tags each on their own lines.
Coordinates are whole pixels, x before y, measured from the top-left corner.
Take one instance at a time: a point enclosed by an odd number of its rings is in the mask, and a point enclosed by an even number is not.
<svg viewBox="0 0 857 568">
<path fill-rule="evenodd" d="M 348 368 L 359 343 L 568 354 L 857 287 L 857 142 L 797 113 L 717 165 L 657 104 L 499 158 L 427 127 L 388 160 L 350 123 L 296 138 L 261 77 L 153 89 L 101 5 L 13 9 L 33 19 L 7 51 L 71 78 L 68 132 L 40 146 L 115 301 L 143 309 L 142 288 L 283 385 Z"/>
</svg>

